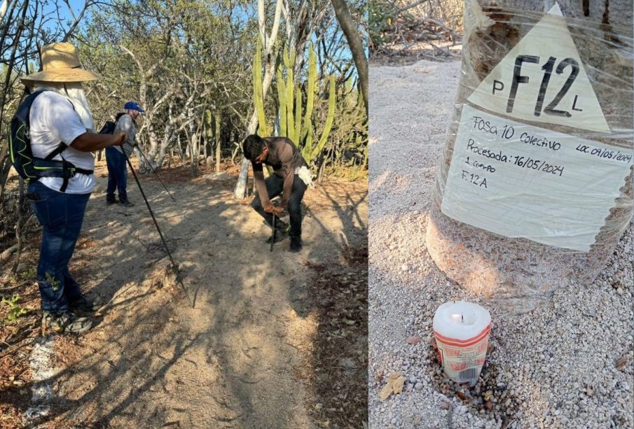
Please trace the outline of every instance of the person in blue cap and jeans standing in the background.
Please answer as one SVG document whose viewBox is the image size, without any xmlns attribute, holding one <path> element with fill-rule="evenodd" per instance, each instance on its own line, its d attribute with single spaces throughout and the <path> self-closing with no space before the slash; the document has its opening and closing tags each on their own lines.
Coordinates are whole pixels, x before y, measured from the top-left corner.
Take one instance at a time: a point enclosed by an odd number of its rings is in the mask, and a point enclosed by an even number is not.
<svg viewBox="0 0 634 429">
<path fill-rule="evenodd" d="M 123 106 L 123 113 L 118 113 L 116 117 L 114 132 L 124 131 L 128 133 L 128 141 L 123 143 L 122 146 L 106 148 L 106 165 L 108 167 L 106 203 L 108 204 L 120 202 L 126 207 L 134 205 L 128 199 L 128 192 L 125 190 L 128 185 L 128 166 L 123 156 L 123 150 L 125 150 L 125 155 L 128 155 L 128 157 L 130 157 L 132 151 L 135 150 L 135 146 L 137 145 L 135 141 L 137 122 L 135 122 L 135 120 L 142 113 L 145 113 L 145 111 L 141 106 L 134 101 L 128 101 L 128 103 Z M 119 192 L 118 201 L 114 195 L 115 190 Z"/>
</svg>

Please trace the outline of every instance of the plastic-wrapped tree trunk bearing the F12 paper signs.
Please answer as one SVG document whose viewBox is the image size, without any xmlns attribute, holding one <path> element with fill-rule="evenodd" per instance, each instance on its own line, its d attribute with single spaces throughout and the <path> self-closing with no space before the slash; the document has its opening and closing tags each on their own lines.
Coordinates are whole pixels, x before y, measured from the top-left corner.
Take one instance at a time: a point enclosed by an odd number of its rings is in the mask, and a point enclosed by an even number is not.
<svg viewBox="0 0 634 429">
<path fill-rule="evenodd" d="M 632 218 L 631 0 L 467 1 L 427 248 L 509 311 L 595 279 Z"/>
</svg>

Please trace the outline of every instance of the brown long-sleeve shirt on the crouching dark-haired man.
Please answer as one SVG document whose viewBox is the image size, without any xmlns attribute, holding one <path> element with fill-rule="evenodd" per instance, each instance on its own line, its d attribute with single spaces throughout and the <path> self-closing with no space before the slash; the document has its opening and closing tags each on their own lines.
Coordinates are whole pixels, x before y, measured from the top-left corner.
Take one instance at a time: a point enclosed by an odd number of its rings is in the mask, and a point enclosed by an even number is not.
<svg viewBox="0 0 634 429">
<path fill-rule="evenodd" d="M 273 174 L 284 178 L 281 206 L 286 207 L 293 190 L 295 169 L 304 165 L 308 167 L 308 164 L 306 164 L 298 148 L 296 148 L 290 139 L 286 137 L 266 137 L 266 139 L 263 140 L 268 147 L 268 155 L 263 164 L 270 165 L 270 167 L 273 167 Z M 270 204 L 270 199 L 268 192 L 266 192 L 262 164 L 251 162 L 251 166 L 253 167 L 253 176 L 260 201 L 262 205 L 266 207 Z"/>
</svg>

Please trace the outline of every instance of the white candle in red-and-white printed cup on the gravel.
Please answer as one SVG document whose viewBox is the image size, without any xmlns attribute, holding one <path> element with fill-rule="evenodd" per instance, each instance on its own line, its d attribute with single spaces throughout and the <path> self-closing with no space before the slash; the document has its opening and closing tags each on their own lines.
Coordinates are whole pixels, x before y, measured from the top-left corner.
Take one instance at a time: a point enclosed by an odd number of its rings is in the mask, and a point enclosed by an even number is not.
<svg viewBox="0 0 634 429">
<path fill-rule="evenodd" d="M 489 312 L 478 304 L 453 301 L 434 314 L 439 360 L 450 379 L 475 386 L 484 365 L 491 328 Z"/>
</svg>

